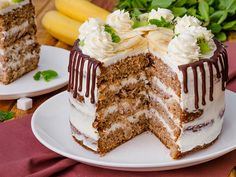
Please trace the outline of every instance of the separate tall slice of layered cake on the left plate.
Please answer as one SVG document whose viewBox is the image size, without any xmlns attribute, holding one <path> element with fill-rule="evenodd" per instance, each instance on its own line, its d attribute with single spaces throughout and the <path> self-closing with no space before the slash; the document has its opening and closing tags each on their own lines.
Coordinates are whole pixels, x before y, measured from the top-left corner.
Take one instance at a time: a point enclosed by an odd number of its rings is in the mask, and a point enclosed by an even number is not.
<svg viewBox="0 0 236 177">
<path fill-rule="evenodd" d="M 0 83 L 9 84 L 38 66 L 40 45 L 31 0 L 2 0 L 0 26 Z"/>
</svg>

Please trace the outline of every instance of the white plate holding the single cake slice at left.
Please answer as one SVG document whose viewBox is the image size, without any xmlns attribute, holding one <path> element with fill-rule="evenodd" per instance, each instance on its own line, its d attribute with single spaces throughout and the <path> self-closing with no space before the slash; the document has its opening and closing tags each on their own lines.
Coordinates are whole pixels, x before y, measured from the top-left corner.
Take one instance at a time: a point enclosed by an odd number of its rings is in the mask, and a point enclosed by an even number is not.
<svg viewBox="0 0 236 177">
<path fill-rule="evenodd" d="M 9 85 L 0 84 L 0 100 L 39 96 L 64 87 L 69 78 L 68 63 L 68 50 L 41 46 L 39 67 Z M 48 69 L 57 71 L 59 77 L 50 82 L 34 80 L 33 76 L 36 72 Z"/>
</svg>

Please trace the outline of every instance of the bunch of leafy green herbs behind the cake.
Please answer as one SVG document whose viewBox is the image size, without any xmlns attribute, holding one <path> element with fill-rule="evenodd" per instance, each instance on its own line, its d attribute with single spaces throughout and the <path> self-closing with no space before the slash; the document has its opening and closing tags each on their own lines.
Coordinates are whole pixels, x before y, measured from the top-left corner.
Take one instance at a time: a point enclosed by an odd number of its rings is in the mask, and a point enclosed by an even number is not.
<svg viewBox="0 0 236 177">
<path fill-rule="evenodd" d="M 220 41 L 227 39 L 229 31 L 236 30 L 236 0 L 120 0 L 117 4 L 132 18 L 158 7 L 172 10 L 175 16 L 197 17 Z M 134 25 L 143 26 L 142 23 L 136 21 Z"/>
</svg>

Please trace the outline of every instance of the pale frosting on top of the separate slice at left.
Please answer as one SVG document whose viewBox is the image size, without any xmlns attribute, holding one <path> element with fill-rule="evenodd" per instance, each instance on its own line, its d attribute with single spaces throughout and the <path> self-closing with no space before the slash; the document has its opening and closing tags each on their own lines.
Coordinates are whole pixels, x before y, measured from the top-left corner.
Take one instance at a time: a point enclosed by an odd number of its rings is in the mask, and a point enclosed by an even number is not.
<svg viewBox="0 0 236 177">
<path fill-rule="evenodd" d="M 30 1 L 29 0 L 24 0 L 20 3 L 13 3 L 11 0 L 1 0 L 3 3 L 6 3 L 6 2 L 9 2 L 9 4 L 7 6 L 3 5 L 1 10 L 0 10 L 0 15 L 4 15 L 14 9 L 17 9 L 17 8 L 21 8 L 22 6 L 26 5 L 26 4 L 29 4 Z"/>
</svg>

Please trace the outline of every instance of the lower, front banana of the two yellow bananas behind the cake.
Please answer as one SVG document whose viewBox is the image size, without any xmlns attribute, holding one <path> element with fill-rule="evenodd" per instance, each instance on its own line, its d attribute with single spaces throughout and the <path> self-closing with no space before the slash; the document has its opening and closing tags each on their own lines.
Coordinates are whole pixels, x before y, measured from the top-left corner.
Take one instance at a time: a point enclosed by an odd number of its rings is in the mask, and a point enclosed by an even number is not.
<svg viewBox="0 0 236 177">
<path fill-rule="evenodd" d="M 60 12 L 49 11 L 42 19 L 49 34 L 66 44 L 73 45 L 78 38 L 81 22 L 73 20 Z"/>
</svg>

